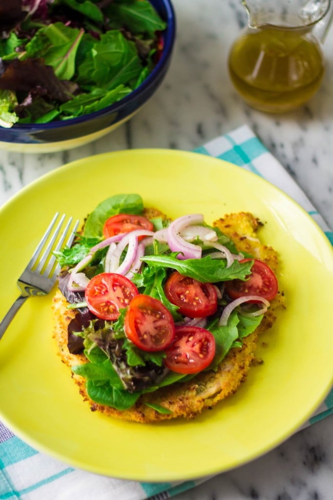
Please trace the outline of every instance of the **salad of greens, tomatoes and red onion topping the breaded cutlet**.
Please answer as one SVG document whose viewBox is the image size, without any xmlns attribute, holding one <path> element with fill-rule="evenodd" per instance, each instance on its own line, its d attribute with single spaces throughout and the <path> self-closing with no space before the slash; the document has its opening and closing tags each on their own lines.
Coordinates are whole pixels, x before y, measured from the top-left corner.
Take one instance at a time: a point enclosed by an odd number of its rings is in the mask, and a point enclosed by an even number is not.
<svg viewBox="0 0 333 500">
<path fill-rule="evenodd" d="M 238 253 L 202 214 L 171 221 L 144 211 L 138 194 L 102 201 L 56 256 L 59 288 L 76 310 L 68 349 L 88 361 L 72 371 L 93 401 L 119 410 L 144 392 L 216 370 L 277 293 L 273 271 Z"/>
</svg>

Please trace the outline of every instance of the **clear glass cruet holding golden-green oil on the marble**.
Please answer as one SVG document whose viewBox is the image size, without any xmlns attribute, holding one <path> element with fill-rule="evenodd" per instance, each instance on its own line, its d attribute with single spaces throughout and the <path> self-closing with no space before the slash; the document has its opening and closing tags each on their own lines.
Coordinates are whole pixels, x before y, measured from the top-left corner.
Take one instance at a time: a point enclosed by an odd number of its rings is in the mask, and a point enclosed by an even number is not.
<svg viewBox="0 0 333 500">
<path fill-rule="evenodd" d="M 242 0 L 247 27 L 231 46 L 231 81 L 250 106 L 285 112 L 306 102 L 325 69 L 330 0 Z"/>
</svg>

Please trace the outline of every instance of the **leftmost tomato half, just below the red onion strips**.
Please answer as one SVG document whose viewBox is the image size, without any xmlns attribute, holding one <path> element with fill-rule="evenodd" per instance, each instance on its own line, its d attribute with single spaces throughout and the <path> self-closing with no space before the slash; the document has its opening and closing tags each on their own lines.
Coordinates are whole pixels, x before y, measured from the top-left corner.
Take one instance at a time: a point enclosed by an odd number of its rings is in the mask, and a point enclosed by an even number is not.
<svg viewBox="0 0 333 500">
<path fill-rule="evenodd" d="M 119 308 L 127 307 L 137 294 L 130 279 L 115 272 L 102 272 L 90 279 L 84 297 L 95 316 L 112 321 L 119 316 Z"/>
</svg>

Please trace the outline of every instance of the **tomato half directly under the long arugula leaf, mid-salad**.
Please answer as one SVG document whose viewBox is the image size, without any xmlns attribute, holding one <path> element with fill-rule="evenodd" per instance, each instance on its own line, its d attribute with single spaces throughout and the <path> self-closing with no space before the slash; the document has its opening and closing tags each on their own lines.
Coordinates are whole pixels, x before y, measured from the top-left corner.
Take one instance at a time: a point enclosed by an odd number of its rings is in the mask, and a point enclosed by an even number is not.
<svg viewBox="0 0 333 500">
<path fill-rule="evenodd" d="M 166 298 L 179 307 L 179 312 L 189 317 L 204 317 L 217 309 L 217 294 L 211 283 L 172 272 L 164 285 Z"/>
</svg>

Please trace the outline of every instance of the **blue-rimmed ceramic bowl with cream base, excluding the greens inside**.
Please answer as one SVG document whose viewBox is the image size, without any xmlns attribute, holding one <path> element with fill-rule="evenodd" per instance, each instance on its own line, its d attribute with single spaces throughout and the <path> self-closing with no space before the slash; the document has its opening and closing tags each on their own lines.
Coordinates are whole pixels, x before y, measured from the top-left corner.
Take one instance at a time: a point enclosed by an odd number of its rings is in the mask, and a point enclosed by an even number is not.
<svg viewBox="0 0 333 500">
<path fill-rule="evenodd" d="M 0 149 L 19 152 L 52 152 L 91 142 L 118 127 L 151 97 L 169 66 L 175 37 L 175 14 L 169 0 L 150 0 L 167 27 L 163 32 L 161 56 L 143 83 L 126 97 L 99 111 L 38 124 L 0 127 Z"/>
</svg>

